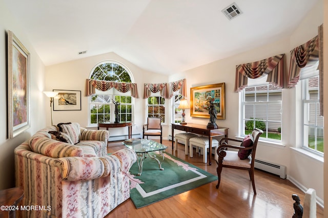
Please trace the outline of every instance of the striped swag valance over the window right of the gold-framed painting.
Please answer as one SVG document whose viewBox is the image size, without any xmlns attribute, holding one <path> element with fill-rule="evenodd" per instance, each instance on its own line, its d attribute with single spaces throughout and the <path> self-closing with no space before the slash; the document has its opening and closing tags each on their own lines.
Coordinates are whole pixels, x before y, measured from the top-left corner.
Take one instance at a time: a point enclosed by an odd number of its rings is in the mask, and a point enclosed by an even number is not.
<svg viewBox="0 0 328 218">
<path fill-rule="evenodd" d="M 248 78 L 256 79 L 267 74 L 267 82 L 283 88 L 284 54 L 276 55 L 260 61 L 236 66 L 235 92 L 248 86 Z"/>
</svg>

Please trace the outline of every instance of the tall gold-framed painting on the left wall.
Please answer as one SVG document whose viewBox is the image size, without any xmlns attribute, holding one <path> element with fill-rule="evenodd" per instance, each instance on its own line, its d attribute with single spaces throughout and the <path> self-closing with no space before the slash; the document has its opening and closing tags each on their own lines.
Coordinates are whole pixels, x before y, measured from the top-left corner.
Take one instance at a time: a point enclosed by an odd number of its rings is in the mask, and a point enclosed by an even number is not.
<svg viewBox="0 0 328 218">
<path fill-rule="evenodd" d="M 8 138 L 30 128 L 30 53 L 8 31 Z"/>
</svg>

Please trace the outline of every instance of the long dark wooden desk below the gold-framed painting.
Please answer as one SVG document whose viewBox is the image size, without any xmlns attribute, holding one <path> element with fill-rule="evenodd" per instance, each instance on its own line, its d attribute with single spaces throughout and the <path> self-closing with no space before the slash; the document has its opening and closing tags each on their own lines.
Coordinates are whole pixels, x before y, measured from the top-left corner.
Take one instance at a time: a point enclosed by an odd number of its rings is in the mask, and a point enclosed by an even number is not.
<svg viewBox="0 0 328 218">
<path fill-rule="evenodd" d="M 190 132 L 194 134 L 199 134 L 203 136 L 209 137 L 209 148 L 210 148 L 210 155 L 209 155 L 209 165 L 212 165 L 212 137 L 214 136 L 222 136 L 228 137 L 228 129 L 226 127 L 218 127 L 217 129 L 208 129 L 207 125 L 201 124 L 172 124 L 172 150 L 173 150 L 173 142 L 174 142 L 174 130 L 181 130 L 185 132 Z M 205 151 L 204 151 L 205 152 Z"/>
</svg>

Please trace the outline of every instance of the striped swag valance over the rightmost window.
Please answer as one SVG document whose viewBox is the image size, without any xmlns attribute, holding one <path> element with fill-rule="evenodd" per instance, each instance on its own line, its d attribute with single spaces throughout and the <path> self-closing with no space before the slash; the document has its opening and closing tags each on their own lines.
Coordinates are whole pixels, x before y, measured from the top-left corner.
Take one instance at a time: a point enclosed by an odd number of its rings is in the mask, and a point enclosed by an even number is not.
<svg viewBox="0 0 328 218">
<path fill-rule="evenodd" d="M 291 51 L 291 62 L 288 74 L 289 88 L 295 87 L 295 85 L 298 83 L 302 68 L 304 68 L 306 65 L 312 65 L 312 63 L 319 60 L 318 43 L 318 36 L 316 36 L 304 44 L 295 47 L 295 49 Z"/>
</svg>

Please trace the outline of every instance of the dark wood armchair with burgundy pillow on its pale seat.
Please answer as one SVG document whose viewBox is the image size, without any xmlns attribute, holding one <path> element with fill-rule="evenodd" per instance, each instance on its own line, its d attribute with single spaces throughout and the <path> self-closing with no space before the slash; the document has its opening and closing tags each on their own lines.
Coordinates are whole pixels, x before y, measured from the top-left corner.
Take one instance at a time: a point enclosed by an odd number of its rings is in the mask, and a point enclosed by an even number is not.
<svg viewBox="0 0 328 218">
<path fill-rule="evenodd" d="M 216 160 L 218 183 L 216 188 L 219 188 L 221 181 L 221 172 L 223 167 L 245 169 L 249 172 L 252 181 L 254 195 L 256 195 L 254 182 L 254 161 L 257 147 L 257 141 L 263 133 L 260 129 L 254 129 L 252 134 L 246 136 L 243 140 L 233 138 L 222 138 L 217 149 L 218 159 Z M 240 142 L 240 146 L 229 144 L 229 141 Z M 228 149 L 237 149 L 238 151 L 231 151 Z"/>
</svg>

